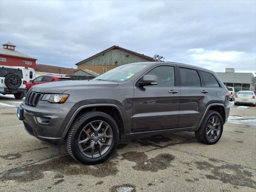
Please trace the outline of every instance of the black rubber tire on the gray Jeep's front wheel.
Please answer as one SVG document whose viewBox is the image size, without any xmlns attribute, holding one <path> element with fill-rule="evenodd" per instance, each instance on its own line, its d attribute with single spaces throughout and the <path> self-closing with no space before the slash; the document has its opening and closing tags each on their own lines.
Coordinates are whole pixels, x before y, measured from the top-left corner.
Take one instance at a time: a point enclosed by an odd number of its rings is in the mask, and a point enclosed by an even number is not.
<svg viewBox="0 0 256 192">
<path fill-rule="evenodd" d="M 78 142 L 80 141 L 80 136 L 81 136 L 84 128 L 91 122 L 96 122 L 96 121 L 103 121 L 109 125 L 109 127 L 111 129 L 111 133 L 112 133 L 112 140 L 111 140 L 111 144 L 109 144 L 108 149 L 106 150 L 106 152 L 104 152 L 104 154 L 101 155 L 99 153 L 98 155 L 100 155 L 100 156 L 93 158 L 93 156 L 92 157 L 86 156 L 81 151 L 81 149 L 80 149 L 81 144 L 78 144 Z M 89 135 L 89 136 L 91 137 L 91 135 Z M 97 136 L 95 136 L 95 138 L 96 137 Z M 84 113 L 74 120 L 70 130 L 68 131 L 67 137 L 66 137 L 66 145 L 67 145 L 67 150 L 68 150 L 68 153 L 70 154 L 70 156 L 72 156 L 78 162 L 80 162 L 82 164 L 98 164 L 98 163 L 103 162 L 109 158 L 109 156 L 112 154 L 112 152 L 116 148 L 118 139 L 119 139 L 119 132 L 118 132 L 118 126 L 117 126 L 115 120 L 106 113 L 95 111 L 95 112 Z M 91 139 L 89 139 L 88 142 L 90 143 L 90 141 L 91 141 Z M 95 147 L 95 143 L 97 144 L 97 142 L 94 142 L 93 148 Z"/>
</svg>

